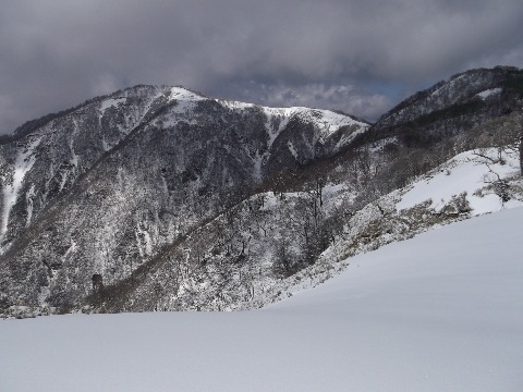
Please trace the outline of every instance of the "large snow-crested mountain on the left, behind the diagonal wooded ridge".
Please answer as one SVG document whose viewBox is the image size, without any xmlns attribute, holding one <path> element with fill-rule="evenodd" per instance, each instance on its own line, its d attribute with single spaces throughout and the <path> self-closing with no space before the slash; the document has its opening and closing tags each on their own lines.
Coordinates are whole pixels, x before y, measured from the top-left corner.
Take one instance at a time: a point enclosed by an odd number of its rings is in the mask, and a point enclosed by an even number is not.
<svg viewBox="0 0 523 392">
<path fill-rule="evenodd" d="M 28 123 L 0 146 L 0 302 L 63 307 L 89 296 L 95 275 L 134 282 L 279 173 L 367 127 L 326 110 L 151 86 Z"/>
</svg>

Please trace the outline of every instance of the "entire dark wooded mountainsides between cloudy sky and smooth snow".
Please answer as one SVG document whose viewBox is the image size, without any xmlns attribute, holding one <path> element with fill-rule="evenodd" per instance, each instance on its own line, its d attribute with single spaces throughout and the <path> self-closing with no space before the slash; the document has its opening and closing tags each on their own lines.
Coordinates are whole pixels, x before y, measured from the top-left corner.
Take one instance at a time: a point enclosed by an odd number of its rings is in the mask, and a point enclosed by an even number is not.
<svg viewBox="0 0 523 392">
<path fill-rule="evenodd" d="M 263 306 L 318 259 L 332 268 L 326 255 L 364 208 L 379 216 L 352 249 L 379 245 L 384 195 L 465 150 L 513 155 L 522 102 L 523 72 L 496 68 L 440 82 L 373 125 L 156 86 L 28 122 L 0 140 L 0 314 Z M 518 199 L 514 175 L 485 186 Z M 416 228 L 471 213 L 448 201 Z"/>
</svg>

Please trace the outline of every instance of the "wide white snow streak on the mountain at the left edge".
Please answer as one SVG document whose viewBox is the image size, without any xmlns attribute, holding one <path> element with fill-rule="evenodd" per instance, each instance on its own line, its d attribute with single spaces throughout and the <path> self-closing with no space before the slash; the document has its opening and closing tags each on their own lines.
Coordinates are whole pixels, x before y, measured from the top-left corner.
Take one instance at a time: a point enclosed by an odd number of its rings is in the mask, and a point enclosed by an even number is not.
<svg viewBox="0 0 523 392">
<path fill-rule="evenodd" d="M 11 209 L 16 203 L 16 197 L 19 196 L 19 192 L 22 187 L 24 176 L 35 163 L 36 157 L 34 151 L 39 143 L 40 138 L 34 139 L 26 148 L 19 152 L 14 161 L 12 177 L 8 181 L 4 179 L 4 183 L 7 184 L 3 187 L 3 211 L 0 225 L 0 243 L 8 231 L 9 216 L 11 213 Z"/>
</svg>

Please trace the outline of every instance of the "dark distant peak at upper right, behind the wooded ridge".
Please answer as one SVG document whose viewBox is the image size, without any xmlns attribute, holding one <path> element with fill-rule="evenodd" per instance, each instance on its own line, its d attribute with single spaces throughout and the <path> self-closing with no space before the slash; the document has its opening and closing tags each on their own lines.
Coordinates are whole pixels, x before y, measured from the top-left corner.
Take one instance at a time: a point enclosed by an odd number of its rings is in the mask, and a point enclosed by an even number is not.
<svg viewBox="0 0 523 392">
<path fill-rule="evenodd" d="M 429 147 L 479 123 L 521 110 L 523 71 L 511 66 L 471 70 L 418 91 L 379 118 L 363 140 L 399 137 Z"/>
</svg>

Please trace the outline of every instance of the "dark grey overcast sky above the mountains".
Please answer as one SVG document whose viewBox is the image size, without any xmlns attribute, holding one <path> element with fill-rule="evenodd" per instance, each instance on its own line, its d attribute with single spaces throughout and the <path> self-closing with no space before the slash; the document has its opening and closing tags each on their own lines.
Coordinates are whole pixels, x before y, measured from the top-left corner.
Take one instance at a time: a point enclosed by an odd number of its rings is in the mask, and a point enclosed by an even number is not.
<svg viewBox="0 0 523 392">
<path fill-rule="evenodd" d="M 471 68 L 523 68 L 521 0 L 0 0 L 0 133 L 136 84 L 375 120 Z"/>
</svg>

